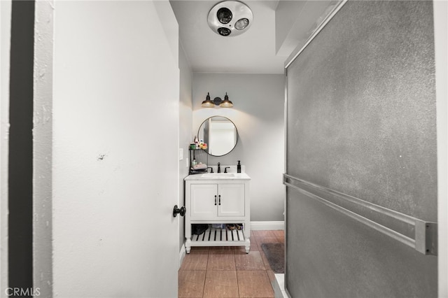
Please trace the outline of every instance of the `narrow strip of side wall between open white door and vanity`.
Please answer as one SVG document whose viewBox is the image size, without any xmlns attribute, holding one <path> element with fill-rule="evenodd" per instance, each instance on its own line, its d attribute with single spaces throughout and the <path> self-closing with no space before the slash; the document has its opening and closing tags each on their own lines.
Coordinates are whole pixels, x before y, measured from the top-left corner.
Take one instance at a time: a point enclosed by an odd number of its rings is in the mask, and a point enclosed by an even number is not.
<svg viewBox="0 0 448 298">
<path fill-rule="evenodd" d="M 179 160 L 179 206 L 184 206 L 185 197 L 183 190 L 183 178 L 188 176 L 189 169 L 189 157 L 188 157 L 188 144 L 191 142 L 192 126 L 193 126 L 193 73 L 188 59 L 185 55 L 185 51 L 179 43 L 179 71 L 181 73 L 181 85 L 180 85 L 180 104 L 179 104 L 179 147 L 183 149 L 183 159 Z M 179 228 L 179 248 L 185 241 L 184 232 L 184 218 L 180 220 Z"/>
</svg>

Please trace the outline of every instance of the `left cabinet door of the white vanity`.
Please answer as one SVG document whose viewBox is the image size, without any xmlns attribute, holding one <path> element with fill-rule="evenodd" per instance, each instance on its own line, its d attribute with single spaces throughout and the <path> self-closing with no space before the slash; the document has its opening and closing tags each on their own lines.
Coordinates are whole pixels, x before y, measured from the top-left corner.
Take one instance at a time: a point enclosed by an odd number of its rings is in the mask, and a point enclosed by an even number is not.
<svg viewBox="0 0 448 298">
<path fill-rule="evenodd" d="M 218 185 L 191 185 L 190 215 L 192 220 L 211 220 L 216 218 L 218 204 Z"/>
</svg>

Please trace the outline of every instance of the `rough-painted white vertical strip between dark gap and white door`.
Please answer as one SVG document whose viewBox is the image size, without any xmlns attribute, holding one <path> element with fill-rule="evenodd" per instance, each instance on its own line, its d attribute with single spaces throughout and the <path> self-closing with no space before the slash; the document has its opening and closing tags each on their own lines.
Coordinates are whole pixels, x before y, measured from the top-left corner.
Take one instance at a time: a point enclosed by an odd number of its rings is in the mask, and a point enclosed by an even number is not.
<svg viewBox="0 0 448 298">
<path fill-rule="evenodd" d="M 42 297 L 53 296 L 53 104 L 55 103 L 55 3 L 36 1 L 34 6 L 33 90 L 33 288 Z M 38 74 L 38 75 L 37 75 Z M 45 108 L 43 108 L 45 107 Z M 37 295 L 37 294 L 36 294 Z"/>
</svg>

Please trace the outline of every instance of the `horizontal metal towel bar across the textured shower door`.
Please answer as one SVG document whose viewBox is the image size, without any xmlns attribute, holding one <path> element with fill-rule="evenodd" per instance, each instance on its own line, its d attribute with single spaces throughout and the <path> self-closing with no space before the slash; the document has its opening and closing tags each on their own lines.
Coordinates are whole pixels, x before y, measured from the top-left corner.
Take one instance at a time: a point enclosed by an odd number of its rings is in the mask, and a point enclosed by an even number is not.
<svg viewBox="0 0 448 298">
<path fill-rule="evenodd" d="M 368 201 L 343 194 L 342 192 L 331 190 L 328 187 L 323 187 L 321 185 L 316 185 L 314 183 L 295 178 L 286 173 L 283 174 L 283 184 L 288 187 L 292 187 L 302 194 L 307 195 L 311 199 L 315 199 L 316 201 L 319 201 L 326 206 L 333 208 L 336 211 L 339 211 L 340 213 L 343 213 L 344 215 L 347 215 L 350 218 L 353 218 L 354 220 L 357 220 L 358 222 L 361 222 L 364 225 L 377 230 L 378 232 L 381 232 L 382 234 L 386 234 L 387 236 L 390 236 L 391 238 L 414 248 L 415 250 L 419 251 L 419 253 L 423 253 L 424 255 L 437 255 L 437 222 L 427 222 L 418 218 L 413 218 L 412 216 L 393 211 L 383 206 L 372 204 Z M 374 220 L 365 218 L 365 216 L 363 215 L 339 206 L 332 201 L 328 201 L 328 199 L 324 199 L 323 197 L 311 192 L 310 190 L 305 189 L 304 187 L 307 187 L 311 190 L 316 190 L 318 192 L 330 194 L 351 204 L 362 206 L 363 208 L 367 208 L 370 211 L 375 211 L 377 213 L 380 213 L 381 215 L 386 215 L 389 218 L 393 218 L 393 220 L 398 220 L 398 222 L 403 222 L 407 225 L 411 225 L 414 227 L 415 231 L 414 239 L 401 234 L 400 232 L 397 232 L 389 227 L 381 225 L 379 222 L 375 222 Z"/>
</svg>

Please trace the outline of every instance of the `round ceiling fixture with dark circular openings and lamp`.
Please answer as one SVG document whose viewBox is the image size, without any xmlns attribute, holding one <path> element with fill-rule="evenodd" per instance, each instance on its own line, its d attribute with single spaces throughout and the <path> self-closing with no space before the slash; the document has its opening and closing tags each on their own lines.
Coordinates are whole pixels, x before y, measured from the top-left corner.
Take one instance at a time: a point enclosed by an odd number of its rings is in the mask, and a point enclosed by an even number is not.
<svg viewBox="0 0 448 298">
<path fill-rule="evenodd" d="M 237 36 L 251 27 L 253 14 L 251 8 L 239 1 L 223 1 L 209 12 L 210 28 L 221 36 Z"/>
</svg>

